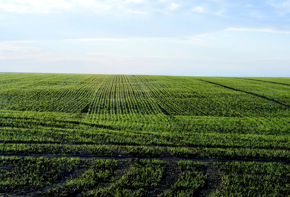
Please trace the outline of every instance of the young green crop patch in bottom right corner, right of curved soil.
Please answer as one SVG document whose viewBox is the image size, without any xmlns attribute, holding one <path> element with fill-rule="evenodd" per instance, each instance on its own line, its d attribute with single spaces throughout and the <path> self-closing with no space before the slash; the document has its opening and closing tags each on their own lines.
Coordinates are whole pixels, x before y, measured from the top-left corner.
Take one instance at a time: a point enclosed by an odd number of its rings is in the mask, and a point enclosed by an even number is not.
<svg viewBox="0 0 290 197">
<path fill-rule="evenodd" d="M 217 196 L 285 196 L 290 194 L 289 165 L 279 163 L 216 163 L 222 184 Z"/>
</svg>

